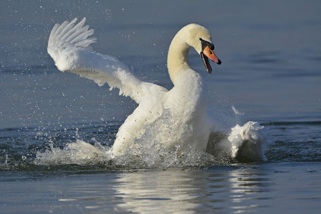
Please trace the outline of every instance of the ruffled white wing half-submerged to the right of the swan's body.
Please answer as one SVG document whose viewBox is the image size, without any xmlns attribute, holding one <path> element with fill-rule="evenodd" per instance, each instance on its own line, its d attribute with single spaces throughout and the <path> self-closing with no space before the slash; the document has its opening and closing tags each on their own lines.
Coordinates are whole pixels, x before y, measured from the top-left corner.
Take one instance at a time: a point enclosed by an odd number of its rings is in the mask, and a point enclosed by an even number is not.
<svg viewBox="0 0 321 214">
<path fill-rule="evenodd" d="M 243 126 L 232 128 L 228 140 L 232 143 L 232 156 L 239 161 L 266 161 L 264 151 L 273 143 L 267 138 L 264 126 L 249 121 Z"/>
</svg>

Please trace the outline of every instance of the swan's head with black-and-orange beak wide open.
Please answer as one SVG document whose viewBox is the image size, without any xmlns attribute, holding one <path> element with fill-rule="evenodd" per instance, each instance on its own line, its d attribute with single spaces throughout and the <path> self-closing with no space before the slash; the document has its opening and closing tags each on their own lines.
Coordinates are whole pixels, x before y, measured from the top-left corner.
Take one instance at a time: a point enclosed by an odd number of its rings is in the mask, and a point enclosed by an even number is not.
<svg viewBox="0 0 321 214">
<path fill-rule="evenodd" d="M 186 42 L 194 47 L 197 53 L 200 54 L 207 72 L 212 73 L 212 67 L 208 59 L 217 64 L 221 64 L 222 62 L 214 54 L 214 45 L 211 41 L 212 37 L 210 31 L 198 24 L 189 24 L 184 28 L 184 31 L 186 30 L 186 32 L 188 32 L 186 35 Z"/>
</svg>

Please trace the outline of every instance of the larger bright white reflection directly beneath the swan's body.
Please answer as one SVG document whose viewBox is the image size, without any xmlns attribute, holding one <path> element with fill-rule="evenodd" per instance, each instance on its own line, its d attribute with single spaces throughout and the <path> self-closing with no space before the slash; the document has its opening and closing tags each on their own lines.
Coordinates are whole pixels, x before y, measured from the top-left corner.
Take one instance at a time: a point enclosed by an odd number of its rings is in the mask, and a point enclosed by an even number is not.
<svg viewBox="0 0 321 214">
<path fill-rule="evenodd" d="M 114 186 L 116 194 L 122 197 L 117 210 L 137 213 L 192 212 L 202 188 L 195 185 L 199 179 L 193 174 L 193 171 L 186 173 L 186 170 L 179 169 L 126 174 L 117 179 L 119 185 Z"/>
</svg>

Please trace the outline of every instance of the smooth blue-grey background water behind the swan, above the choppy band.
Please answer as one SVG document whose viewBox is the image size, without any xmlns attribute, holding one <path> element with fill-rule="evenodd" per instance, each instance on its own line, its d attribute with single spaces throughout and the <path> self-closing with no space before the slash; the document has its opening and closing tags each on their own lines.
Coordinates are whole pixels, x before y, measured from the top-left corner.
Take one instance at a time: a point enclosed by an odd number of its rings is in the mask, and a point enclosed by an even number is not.
<svg viewBox="0 0 321 214">
<path fill-rule="evenodd" d="M 205 6 L 206 5 L 206 6 Z M 1 127 L 67 126 L 124 119 L 135 104 L 118 91 L 60 73 L 47 54 L 55 23 L 86 17 L 94 49 L 132 65 L 139 76 L 172 87 L 166 67 L 175 33 L 188 23 L 211 32 L 221 65 L 206 78 L 213 107 L 235 105 L 257 121 L 321 120 L 319 1 L 295 2 L 2 2 Z M 82 118 L 81 118 L 82 117 Z"/>
</svg>

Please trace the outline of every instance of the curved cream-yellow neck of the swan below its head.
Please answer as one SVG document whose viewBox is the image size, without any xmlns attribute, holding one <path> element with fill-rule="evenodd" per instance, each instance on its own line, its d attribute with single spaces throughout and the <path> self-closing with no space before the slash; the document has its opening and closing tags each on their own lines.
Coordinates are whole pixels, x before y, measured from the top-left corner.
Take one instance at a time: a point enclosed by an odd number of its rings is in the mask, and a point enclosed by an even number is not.
<svg viewBox="0 0 321 214">
<path fill-rule="evenodd" d="M 179 72 L 190 69 L 188 64 L 188 52 L 191 46 L 187 44 L 181 33 L 178 32 L 172 40 L 167 56 L 167 67 L 171 81 L 176 82 L 176 77 Z"/>
</svg>

